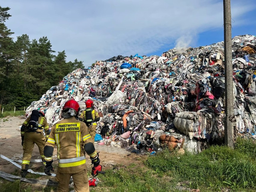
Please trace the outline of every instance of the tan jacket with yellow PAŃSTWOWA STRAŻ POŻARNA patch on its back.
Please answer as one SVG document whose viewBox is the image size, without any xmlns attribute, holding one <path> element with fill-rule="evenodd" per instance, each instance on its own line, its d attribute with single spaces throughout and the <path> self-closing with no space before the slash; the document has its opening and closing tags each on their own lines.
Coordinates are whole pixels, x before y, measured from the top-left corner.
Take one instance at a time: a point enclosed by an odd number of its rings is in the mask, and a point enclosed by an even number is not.
<svg viewBox="0 0 256 192">
<path fill-rule="evenodd" d="M 69 174 L 81 172 L 86 169 L 83 147 L 89 142 L 92 143 L 92 139 L 84 122 L 76 120 L 75 117 L 60 120 L 51 128 L 44 147 L 45 160 L 52 160 L 52 157 L 46 156 L 46 150 L 49 149 L 46 146 L 53 148 L 57 146 L 58 172 Z M 88 154 L 88 150 L 86 153 Z M 88 155 L 96 157 L 97 152 L 93 145 Z"/>
</svg>

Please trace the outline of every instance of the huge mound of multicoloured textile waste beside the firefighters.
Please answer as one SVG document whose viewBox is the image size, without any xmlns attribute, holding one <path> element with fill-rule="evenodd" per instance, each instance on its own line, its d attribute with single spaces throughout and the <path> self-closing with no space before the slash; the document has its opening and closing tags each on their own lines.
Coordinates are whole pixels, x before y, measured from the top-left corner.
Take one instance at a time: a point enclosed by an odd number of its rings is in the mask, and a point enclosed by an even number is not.
<svg viewBox="0 0 256 192">
<path fill-rule="evenodd" d="M 232 49 L 236 134 L 255 138 L 256 37 L 235 36 Z M 26 112 L 45 111 L 51 126 L 62 119 L 68 99 L 79 102 L 80 113 L 92 99 L 101 116 L 99 145 L 136 154 L 154 154 L 163 146 L 197 153 L 223 142 L 224 87 L 224 42 L 219 42 L 98 61 L 69 73 Z"/>
</svg>

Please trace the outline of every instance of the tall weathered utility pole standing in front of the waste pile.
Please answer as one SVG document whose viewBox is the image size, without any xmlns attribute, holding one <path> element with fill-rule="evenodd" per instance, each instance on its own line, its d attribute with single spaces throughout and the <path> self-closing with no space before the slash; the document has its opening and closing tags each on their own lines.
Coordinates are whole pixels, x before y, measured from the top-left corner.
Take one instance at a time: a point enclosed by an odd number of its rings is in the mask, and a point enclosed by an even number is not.
<svg viewBox="0 0 256 192">
<path fill-rule="evenodd" d="M 233 148 L 233 68 L 232 68 L 232 37 L 231 37 L 231 6 L 230 0 L 223 0 L 224 7 L 224 54 L 225 54 L 225 145 Z"/>
</svg>

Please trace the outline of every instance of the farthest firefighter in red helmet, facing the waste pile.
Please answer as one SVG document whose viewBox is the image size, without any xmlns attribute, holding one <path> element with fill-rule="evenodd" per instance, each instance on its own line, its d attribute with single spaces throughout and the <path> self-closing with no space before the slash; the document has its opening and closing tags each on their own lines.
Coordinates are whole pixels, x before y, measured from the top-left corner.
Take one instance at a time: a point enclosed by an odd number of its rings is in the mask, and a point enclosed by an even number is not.
<svg viewBox="0 0 256 192">
<path fill-rule="evenodd" d="M 88 131 L 90 133 L 90 136 L 92 137 L 93 140 L 93 145 L 94 145 L 94 138 L 96 135 L 96 128 L 97 128 L 97 121 L 100 120 L 98 112 L 93 109 L 93 101 L 91 99 L 88 99 L 85 102 L 86 109 L 82 112 L 80 115 L 79 120 L 83 121 L 87 127 Z"/>
</svg>

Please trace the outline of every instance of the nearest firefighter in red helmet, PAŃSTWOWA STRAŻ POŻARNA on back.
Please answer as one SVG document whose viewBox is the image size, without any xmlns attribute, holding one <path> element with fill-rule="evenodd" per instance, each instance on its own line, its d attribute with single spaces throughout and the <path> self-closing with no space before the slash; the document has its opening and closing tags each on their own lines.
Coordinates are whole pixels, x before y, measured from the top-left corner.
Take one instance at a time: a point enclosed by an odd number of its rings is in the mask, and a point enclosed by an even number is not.
<svg viewBox="0 0 256 192">
<path fill-rule="evenodd" d="M 56 175 L 57 192 L 69 191 L 71 176 L 76 192 L 89 191 L 85 152 L 93 163 L 92 175 L 97 175 L 97 171 L 102 169 L 86 124 L 76 119 L 79 109 L 78 102 L 73 99 L 64 104 L 62 109 L 64 119 L 52 126 L 49 139 L 44 147 L 44 156 L 47 162 L 44 172 L 51 175 L 53 148 L 57 146 L 59 161 Z"/>
</svg>

